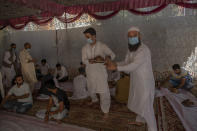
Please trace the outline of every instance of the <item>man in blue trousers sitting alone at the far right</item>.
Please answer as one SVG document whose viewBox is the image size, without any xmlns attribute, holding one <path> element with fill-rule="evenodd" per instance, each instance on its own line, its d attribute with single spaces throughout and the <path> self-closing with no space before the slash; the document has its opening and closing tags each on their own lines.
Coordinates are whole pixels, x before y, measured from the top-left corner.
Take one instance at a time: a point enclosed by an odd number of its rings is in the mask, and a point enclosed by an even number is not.
<svg viewBox="0 0 197 131">
<path fill-rule="evenodd" d="M 173 71 L 170 74 L 169 80 L 172 88 L 190 90 L 194 87 L 190 74 L 184 69 L 181 69 L 180 65 L 174 64 L 172 69 Z"/>
</svg>

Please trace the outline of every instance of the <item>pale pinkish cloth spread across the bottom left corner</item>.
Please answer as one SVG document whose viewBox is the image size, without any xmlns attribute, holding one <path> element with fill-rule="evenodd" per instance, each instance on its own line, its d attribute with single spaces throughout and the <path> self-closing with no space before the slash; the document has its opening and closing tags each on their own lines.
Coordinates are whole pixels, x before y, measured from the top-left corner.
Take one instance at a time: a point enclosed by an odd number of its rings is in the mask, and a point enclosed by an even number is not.
<svg viewBox="0 0 197 131">
<path fill-rule="evenodd" d="M 36 117 L 6 111 L 0 111 L 0 116 L 0 131 L 93 131 L 65 123 L 45 123 Z"/>
</svg>

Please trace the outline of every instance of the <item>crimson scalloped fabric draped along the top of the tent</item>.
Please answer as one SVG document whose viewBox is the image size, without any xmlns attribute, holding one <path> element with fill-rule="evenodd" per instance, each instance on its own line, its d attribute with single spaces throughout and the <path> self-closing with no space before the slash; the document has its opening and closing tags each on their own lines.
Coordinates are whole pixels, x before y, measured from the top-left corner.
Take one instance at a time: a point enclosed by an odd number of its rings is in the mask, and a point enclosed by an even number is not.
<svg viewBox="0 0 197 131">
<path fill-rule="evenodd" d="M 197 3 L 188 3 L 188 0 L 119 0 L 115 2 L 104 2 L 90 5 L 77 5 L 66 7 L 50 0 L 8 0 L 10 2 L 24 5 L 26 7 L 40 9 L 43 13 L 37 16 L 27 16 L 9 20 L 0 20 L 0 29 L 10 25 L 14 29 L 22 29 L 29 22 L 43 25 L 57 17 L 64 23 L 71 23 L 78 20 L 84 13 L 88 13 L 95 19 L 105 20 L 115 16 L 120 10 L 128 10 L 136 15 L 149 15 L 157 13 L 167 7 L 169 4 L 176 4 L 185 8 L 197 8 Z M 157 6 L 151 11 L 139 11 L 138 8 Z M 112 11 L 107 15 L 97 15 L 96 12 Z M 73 18 L 62 18 L 63 13 L 76 15 Z"/>
</svg>

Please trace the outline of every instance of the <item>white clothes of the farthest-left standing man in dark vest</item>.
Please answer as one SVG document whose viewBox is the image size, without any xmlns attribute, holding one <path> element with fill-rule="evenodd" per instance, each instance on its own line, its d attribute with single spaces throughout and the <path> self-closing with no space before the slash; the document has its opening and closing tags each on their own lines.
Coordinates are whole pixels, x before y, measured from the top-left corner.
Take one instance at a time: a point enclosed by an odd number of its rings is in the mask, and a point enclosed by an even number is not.
<svg viewBox="0 0 197 131">
<path fill-rule="evenodd" d="M 12 64 L 12 62 L 9 60 L 10 57 L 11 57 L 11 52 L 6 51 L 4 54 L 3 61 L 7 64 Z M 15 53 L 13 53 L 13 61 L 16 61 Z M 12 80 L 14 79 L 15 75 L 16 75 L 16 72 L 14 69 L 14 64 L 12 64 L 11 67 L 7 67 L 4 65 L 2 66 L 2 76 L 3 78 L 5 77 L 5 85 L 7 87 L 11 87 Z"/>
</svg>

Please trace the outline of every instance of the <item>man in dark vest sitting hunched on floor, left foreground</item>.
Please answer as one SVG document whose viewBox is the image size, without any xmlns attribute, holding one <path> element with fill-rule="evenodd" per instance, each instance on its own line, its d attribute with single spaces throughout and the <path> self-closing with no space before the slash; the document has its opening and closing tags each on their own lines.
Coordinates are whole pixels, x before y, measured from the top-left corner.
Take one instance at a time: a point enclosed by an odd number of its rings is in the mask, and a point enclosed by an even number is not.
<svg viewBox="0 0 197 131">
<path fill-rule="evenodd" d="M 60 120 L 66 117 L 70 109 L 66 92 L 58 89 L 53 79 L 47 81 L 46 87 L 50 96 L 47 109 L 38 111 L 36 116 L 45 119 L 46 122 L 49 119 L 55 119 L 60 122 Z"/>
</svg>

